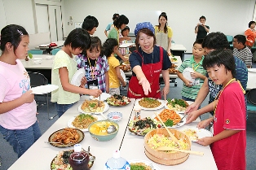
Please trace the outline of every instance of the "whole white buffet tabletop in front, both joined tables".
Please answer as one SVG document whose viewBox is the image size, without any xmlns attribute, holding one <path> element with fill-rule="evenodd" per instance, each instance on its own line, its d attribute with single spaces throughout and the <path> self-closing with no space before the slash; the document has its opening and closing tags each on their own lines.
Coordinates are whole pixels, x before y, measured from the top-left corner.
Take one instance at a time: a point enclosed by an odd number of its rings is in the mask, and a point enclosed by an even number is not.
<svg viewBox="0 0 256 170">
<path fill-rule="evenodd" d="M 10 170 L 16 169 L 51 169 L 51 161 L 55 158 L 55 155 L 59 153 L 60 150 L 70 150 L 73 146 L 68 148 L 58 148 L 45 143 L 48 141 L 48 137 L 52 133 L 59 129 L 64 129 L 67 127 L 68 120 L 72 119 L 73 116 L 77 116 L 80 113 L 77 108 L 82 104 L 84 99 L 88 99 L 88 96 L 82 96 L 81 100 L 77 102 L 73 107 L 68 109 L 51 127 L 42 134 L 42 137 L 38 139 L 37 142 L 33 144 L 27 150 L 24 155 L 17 159 L 15 163 L 11 165 Z M 95 139 L 90 137 L 89 132 L 85 132 L 85 138 L 82 140 L 82 147 L 87 149 L 90 146 L 90 153 L 95 156 L 95 163 L 92 170 L 104 169 L 104 163 L 113 156 L 113 150 L 121 149 L 121 157 L 131 160 L 131 159 L 141 159 L 152 162 L 143 153 L 143 137 L 135 136 L 135 134 L 130 134 L 129 130 L 126 129 L 130 117 L 133 119 L 132 110 L 135 105 L 135 99 L 131 99 L 130 104 L 124 107 L 112 107 L 110 106 L 108 111 L 104 112 L 106 116 L 110 111 L 121 111 L 123 118 L 119 124 L 119 131 L 117 137 L 108 142 L 97 142 Z M 161 110 L 159 110 L 161 111 Z M 152 116 L 152 111 L 142 111 L 142 116 Z M 186 127 L 196 127 L 196 123 L 184 125 Z M 157 164 L 162 170 L 164 169 L 217 169 L 214 163 L 213 155 L 211 154 L 209 146 L 200 146 L 196 143 L 192 143 L 192 150 L 205 152 L 204 156 L 190 155 L 188 160 L 184 163 L 176 165 L 174 167 L 164 166 Z M 206 168 L 207 167 L 207 168 Z"/>
</svg>

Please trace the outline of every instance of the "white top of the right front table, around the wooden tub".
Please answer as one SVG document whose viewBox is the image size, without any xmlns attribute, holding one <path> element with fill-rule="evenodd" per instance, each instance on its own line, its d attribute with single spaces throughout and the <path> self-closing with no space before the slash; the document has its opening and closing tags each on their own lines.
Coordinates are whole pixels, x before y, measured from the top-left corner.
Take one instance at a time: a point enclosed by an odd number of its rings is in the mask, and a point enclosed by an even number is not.
<svg viewBox="0 0 256 170">
<path fill-rule="evenodd" d="M 161 110 L 157 110 L 157 112 L 161 112 Z M 153 111 L 141 111 L 141 117 L 151 117 L 154 115 Z M 196 128 L 196 124 L 200 120 L 197 119 L 195 122 L 191 124 L 185 124 L 179 128 L 178 130 L 188 129 L 188 128 Z M 139 159 L 152 162 L 152 160 L 148 159 L 147 155 L 144 153 L 143 146 L 144 138 L 140 136 L 136 136 L 130 131 L 126 130 L 126 135 L 121 144 L 121 155 L 126 155 L 125 158 L 127 160 Z M 132 148 L 132 150 L 131 150 Z M 201 146 L 195 142 L 192 142 L 191 150 L 204 152 L 205 155 L 189 155 L 188 159 L 184 163 L 180 163 L 174 166 L 166 166 L 155 163 L 161 170 L 191 170 L 191 169 L 207 169 L 207 170 L 215 170 L 217 169 L 216 163 L 214 161 L 214 157 L 210 150 L 210 146 Z"/>
</svg>

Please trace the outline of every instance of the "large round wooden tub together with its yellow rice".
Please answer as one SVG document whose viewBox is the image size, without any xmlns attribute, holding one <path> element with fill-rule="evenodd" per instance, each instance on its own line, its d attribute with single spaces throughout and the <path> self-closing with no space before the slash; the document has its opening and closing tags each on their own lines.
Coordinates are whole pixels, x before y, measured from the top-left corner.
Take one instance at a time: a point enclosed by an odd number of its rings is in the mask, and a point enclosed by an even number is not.
<svg viewBox="0 0 256 170">
<path fill-rule="evenodd" d="M 176 129 L 169 129 L 170 133 L 178 139 L 174 142 L 166 129 L 153 129 L 144 137 L 144 152 L 153 162 L 164 165 L 176 165 L 183 163 L 188 159 L 189 154 L 179 151 L 159 151 L 156 150 L 159 146 L 170 146 L 174 149 L 190 150 L 191 141 L 189 137 Z"/>
</svg>

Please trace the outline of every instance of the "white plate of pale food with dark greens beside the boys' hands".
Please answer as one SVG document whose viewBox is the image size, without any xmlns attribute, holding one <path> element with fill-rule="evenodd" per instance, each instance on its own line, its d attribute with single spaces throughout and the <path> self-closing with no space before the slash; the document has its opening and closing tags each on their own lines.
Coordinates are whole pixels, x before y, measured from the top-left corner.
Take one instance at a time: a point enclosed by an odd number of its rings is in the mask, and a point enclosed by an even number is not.
<svg viewBox="0 0 256 170">
<path fill-rule="evenodd" d="M 186 111 L 186 108 L 191 104 L 191 101 L 185 101 L 183 99 L 167 99 L 165 104 L 166 109 L 176 111 L 178 113 Z"/>
</svg>

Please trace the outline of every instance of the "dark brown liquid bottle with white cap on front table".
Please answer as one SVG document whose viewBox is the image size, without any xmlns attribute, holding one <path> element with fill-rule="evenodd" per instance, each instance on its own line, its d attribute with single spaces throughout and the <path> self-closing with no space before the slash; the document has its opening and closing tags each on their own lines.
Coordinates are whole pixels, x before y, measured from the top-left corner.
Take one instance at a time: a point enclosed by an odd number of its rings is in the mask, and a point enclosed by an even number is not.
<svg viewBox="0 0 256 170">
<path fill-rule="evenodd" d="M 81 144 L 76 144 L 73 154 L 69 156 L 69 164 L 73 170 L 90 170 L 89 160 L 89 155 L 82 150 Z"/>
</svg>

